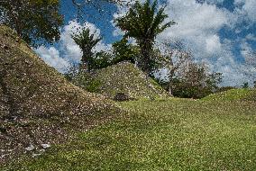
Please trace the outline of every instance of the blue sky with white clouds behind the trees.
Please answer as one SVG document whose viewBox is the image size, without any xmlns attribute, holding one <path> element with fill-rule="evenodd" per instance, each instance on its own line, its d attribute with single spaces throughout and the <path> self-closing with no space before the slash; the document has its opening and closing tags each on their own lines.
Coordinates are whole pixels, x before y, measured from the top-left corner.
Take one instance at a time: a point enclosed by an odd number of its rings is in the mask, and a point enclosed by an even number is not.
<svg viewBox="0 0 256 171">
<path fill-rule="evenodd" d="M 167 21 L 174 20 L 177 24 L 157 36 L 158 42 L 182 40 L 197 62 L 206 62 L 211 71 L 223 73 L 222 85 L 242 85 L 256 80 L 256 68 L 244 65 L 249 60 L 248 53 L 256 49 L 256 0 L 165 0 L 165 3 Z M 71 1 L 61 0 L 60 12 L 65 24 L 59 28 L 59 42 L 34 50 L 63 73 L 80 61 L 81 51 L 70 37 L 78 28 L 89 27 L 103 37 L 95 51 L 111 49 L 111 43 L 123 35 L 113 20 L 125 14 L 127 7 L 102 3 L 100 10 L 99 13 L 88 4 L 78 23 L 74 20 L 77 13 Z"/>
</svg>

